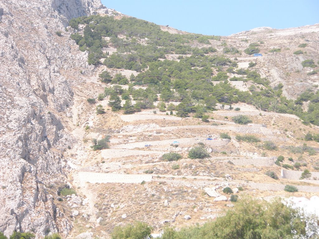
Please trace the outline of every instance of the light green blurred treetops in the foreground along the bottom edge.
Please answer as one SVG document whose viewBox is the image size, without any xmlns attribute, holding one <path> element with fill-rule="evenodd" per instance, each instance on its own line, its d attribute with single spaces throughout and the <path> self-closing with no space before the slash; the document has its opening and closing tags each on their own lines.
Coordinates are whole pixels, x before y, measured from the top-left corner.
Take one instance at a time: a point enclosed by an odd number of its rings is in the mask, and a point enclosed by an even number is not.
<svg viewBox="0 0 319 239">
<path fill-rule="evenodd" d="M 291 185 L 288 192 L 295 189 Z M 233 200 L 236 201 L 236 200 Z M 258 239 L 258 238 L 317 238 L 318 218 L 303 214 L 299 209 L 286 205 L 281 200 L 272 203 L 254 199 L 239 200 L 226 215 L 203 226 L 181 228 L 179 231 L 167 227 L 161 239 Z M 143 222 L 115 227 L 112 239 L 150 238 L 152 228 Z"/>
</svg>

